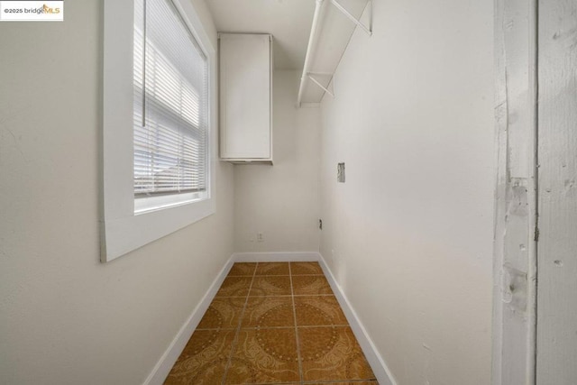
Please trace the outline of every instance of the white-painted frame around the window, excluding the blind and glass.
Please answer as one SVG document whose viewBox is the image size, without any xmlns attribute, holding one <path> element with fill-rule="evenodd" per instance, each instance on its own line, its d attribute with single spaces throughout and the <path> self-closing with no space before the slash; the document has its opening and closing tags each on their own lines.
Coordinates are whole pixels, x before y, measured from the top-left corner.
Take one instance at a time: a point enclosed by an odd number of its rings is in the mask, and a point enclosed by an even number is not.
<svg viewBox="0 0 577 385">
<path fill-rule="evenodd" d="M 216 59 L 194 6 L 172 0 L 204 50 L 208 69 L 207 197 L 134 214 L 133 0 L 105 0 L 101 261 L 112 261 L 215 213 Z"/>
</svg>

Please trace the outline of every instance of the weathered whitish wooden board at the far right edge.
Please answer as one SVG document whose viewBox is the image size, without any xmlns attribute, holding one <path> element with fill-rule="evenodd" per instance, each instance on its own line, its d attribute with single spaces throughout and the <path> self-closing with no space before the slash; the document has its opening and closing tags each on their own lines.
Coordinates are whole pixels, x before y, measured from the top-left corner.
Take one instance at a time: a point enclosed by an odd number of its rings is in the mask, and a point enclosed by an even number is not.
<svg viewBox="0 0 577 385">
<path fill-rule="evenodd" d="M 577 0 L 539 0 L 536 383 L 577 383 Z"/>
</svg>

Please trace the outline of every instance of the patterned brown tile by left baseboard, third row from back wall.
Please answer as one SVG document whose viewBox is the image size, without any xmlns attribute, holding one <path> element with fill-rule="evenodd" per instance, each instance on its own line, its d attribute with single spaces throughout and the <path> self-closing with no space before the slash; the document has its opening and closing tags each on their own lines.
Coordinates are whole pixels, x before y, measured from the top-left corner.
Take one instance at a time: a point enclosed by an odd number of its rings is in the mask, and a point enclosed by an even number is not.
<svg viewBox="0 0 577 385">
<path fill-rule="evenodd" d="M 213 299 L 197 326 L 198 329 L 234 329 L 243 314 L 245 297 L 222 297 Z"/>
</svg>

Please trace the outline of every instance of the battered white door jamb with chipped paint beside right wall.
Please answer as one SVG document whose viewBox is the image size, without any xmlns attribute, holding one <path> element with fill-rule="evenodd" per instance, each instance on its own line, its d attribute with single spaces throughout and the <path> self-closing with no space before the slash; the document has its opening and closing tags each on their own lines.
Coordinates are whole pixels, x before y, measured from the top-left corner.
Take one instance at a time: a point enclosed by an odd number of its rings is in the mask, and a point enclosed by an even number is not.
<svg viewBox="0 0 577 385">
<path fill-rule="evenodd" d="M 495 0 L 493 385 L 536 379 L 537 0 Z"/>
</svg>

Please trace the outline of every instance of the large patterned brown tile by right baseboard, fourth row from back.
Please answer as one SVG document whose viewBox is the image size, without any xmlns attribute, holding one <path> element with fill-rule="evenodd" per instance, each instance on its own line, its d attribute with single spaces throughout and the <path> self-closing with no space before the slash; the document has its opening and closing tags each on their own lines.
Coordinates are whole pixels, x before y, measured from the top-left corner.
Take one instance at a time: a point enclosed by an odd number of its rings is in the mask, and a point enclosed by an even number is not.
<svg viewBox="0 0 577 385">
<path fill-rule="evenodd" d="M 375 380 L 350 327 L 298 328 L 306 381 Z"/>
</svg>

